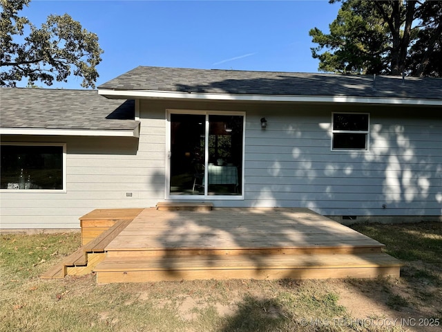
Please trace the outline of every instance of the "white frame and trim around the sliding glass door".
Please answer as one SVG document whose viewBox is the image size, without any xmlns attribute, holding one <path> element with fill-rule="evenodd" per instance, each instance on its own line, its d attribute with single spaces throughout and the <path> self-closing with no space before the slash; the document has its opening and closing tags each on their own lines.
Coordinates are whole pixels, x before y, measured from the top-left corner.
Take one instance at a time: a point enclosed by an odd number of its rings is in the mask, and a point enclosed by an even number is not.
<svg viewBox="0 0 442 332">
<path fill-rule="evenodd" d="M 206 131 L 209 131 L 209 115 L 210 116 L 242 116 L 242 175 L 241 175 L 241 195 L 171 195 L 170 191 L 170 181 L 171 181 L 171 114 L 200 114 L 206 116 Z M 246 134 L 246 112 L 242 111 L 204 111 L 204 110 L 189 110 L 189 109 L 166 109 L 166 181 L 164 183 L 164 199 L 169 200 L 201 200 L 205 201 L 243 201 L 244 200 L 244 167 L 245 167 L 245 134 Z M 205 161 L 209 158 L 209 136 L 206 135 L 205 142 Z M 207 172 L 207 167 L 205 167 L 204 172 Z M 208 176 L 204 176 L 204 188 L 207 188 Z"/>
</svg>

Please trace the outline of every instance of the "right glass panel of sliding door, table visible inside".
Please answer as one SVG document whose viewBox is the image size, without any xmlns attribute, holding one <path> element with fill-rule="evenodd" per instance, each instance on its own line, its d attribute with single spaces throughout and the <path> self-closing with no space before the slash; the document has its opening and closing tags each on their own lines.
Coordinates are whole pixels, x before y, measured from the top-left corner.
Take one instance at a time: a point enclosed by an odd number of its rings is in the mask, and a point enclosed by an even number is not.
<svg viewBox="0 0 442 332">
<path fill-rule="evenodd" d="M 209 115 L 208 195 L 242 195 L 243 118 Z"/>
</svg>

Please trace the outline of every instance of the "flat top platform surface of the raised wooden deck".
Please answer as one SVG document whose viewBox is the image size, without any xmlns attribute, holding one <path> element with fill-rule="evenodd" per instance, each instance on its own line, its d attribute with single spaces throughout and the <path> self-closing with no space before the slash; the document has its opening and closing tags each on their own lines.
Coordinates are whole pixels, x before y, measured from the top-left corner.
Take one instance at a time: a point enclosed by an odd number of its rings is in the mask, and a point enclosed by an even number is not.
<svg viewBox="0 0 442 332">
<path fill-rule="evenodd" d="M 145 209 L 106 247 L 112 250 L 182 250 L 383 246 L 308 209 Z"/>
</svg>

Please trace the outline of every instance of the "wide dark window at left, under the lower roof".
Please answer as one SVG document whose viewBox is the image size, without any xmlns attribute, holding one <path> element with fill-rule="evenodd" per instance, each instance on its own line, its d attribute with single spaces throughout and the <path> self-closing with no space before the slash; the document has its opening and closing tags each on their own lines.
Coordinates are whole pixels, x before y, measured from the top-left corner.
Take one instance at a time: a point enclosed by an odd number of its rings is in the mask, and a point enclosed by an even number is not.
<svg viewBox="0 0 442 332">
<path fill-rule="evenodd" d="M 3 143 L 2 190 L 65 190 L 66 145 Z"/>
</svg>

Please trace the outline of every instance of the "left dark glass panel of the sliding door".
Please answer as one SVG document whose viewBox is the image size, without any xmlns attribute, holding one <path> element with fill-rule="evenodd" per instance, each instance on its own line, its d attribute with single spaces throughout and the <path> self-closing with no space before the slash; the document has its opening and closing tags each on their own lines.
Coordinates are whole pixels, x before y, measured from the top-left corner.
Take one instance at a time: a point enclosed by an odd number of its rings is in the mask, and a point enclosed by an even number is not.
<svg viewBox="0 0 442 332">
<path fill-rule="evenodd" d="M 204 195 L 204 114 L 171 114 L 171 195 Z"/>
</svg>

